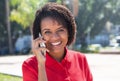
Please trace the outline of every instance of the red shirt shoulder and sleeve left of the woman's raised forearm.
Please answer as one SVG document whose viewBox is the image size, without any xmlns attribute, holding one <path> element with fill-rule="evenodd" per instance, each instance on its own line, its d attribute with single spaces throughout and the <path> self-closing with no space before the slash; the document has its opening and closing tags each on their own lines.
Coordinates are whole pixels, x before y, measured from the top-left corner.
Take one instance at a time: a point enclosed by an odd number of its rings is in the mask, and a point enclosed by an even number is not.
<svg viewBox="0 0 120 81">
<path fill-rule="evenodd" d="M 37 81 L 38 67 L 35 56 L 29 57 L 22 64 L 23 81 Z"/>
</svg>

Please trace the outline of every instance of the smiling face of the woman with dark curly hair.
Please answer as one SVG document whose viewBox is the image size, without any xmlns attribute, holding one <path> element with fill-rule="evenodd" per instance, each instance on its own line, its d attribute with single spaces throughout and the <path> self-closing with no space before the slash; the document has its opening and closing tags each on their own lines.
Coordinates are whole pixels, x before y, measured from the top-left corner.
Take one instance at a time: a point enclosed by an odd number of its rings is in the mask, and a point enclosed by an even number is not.
<svg viewBox="0 0 120 81">
<path fill-rule="evenodd" d="M 68 31 L 56 20 L 46 17 L 41 21 L 41 33 L 46 41 L 46 47 L 50 54 L 64 53 L 64 47 L 68 42 Z"/>
</svg>

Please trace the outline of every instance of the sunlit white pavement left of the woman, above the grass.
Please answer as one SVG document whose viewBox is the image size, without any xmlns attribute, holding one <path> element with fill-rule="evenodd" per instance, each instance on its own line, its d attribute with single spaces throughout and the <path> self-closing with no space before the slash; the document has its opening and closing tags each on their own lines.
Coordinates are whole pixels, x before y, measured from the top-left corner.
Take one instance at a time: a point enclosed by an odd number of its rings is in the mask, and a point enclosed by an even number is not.
<svg viewBox="0 0 120 81">
<path fill-rule="evenodd" d="M 31 55 L 0 57 L 0 73 L 22 77 L 21 66 Z"/>
</svg>

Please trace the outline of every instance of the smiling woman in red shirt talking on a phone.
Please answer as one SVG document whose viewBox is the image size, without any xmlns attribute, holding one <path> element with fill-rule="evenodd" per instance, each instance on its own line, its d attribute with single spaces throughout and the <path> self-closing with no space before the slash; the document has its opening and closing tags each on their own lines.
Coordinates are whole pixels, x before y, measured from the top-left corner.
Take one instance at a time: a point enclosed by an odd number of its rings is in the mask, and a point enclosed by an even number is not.
<svg viewBox="0 0 120 81">
<path fill-rule="evenodd" d="M 85 55 L 67 48 L 75 39 L 76 24 L 66 7 L 44 5 L 36 12 L 32 34 L 35 56 L 22 65 L 23 81 L 93 81 Z"/>
</svg>

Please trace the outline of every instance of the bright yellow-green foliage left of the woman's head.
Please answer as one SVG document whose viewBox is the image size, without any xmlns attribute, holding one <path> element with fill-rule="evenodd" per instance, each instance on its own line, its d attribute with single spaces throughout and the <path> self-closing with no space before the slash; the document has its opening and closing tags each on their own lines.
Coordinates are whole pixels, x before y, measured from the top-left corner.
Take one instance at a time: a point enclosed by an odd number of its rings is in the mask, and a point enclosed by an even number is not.
<svg viewBox="0 0 120 81">
<path fill-rule="evenodd" d="M 47 0 L 10 0 L 14 8 L 10 13 L 10 20 L 16 21 L 24 28 L 32 25 L 35 12 L 43 6 Z"/>
</svg>

